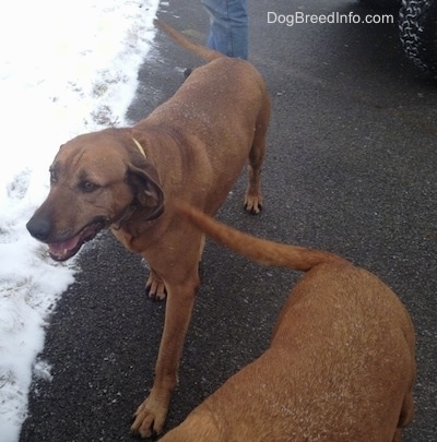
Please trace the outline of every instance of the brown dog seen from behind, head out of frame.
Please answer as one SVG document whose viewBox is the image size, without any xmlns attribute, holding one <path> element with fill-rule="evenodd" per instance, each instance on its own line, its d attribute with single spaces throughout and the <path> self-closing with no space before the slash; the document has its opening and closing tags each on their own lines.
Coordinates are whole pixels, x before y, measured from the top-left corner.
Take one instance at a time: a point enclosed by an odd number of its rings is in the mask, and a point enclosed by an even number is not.
<svg viewBox="0 0 437 442">
<path fill-rule="evenodd" d="M 161 440 L 401 441 L 414 415 L 415 338 L 393 291 L 336 255 L 180 211 L 243 255 L 308 273 L 290 294 L 269 349 Z"/>
</svg>

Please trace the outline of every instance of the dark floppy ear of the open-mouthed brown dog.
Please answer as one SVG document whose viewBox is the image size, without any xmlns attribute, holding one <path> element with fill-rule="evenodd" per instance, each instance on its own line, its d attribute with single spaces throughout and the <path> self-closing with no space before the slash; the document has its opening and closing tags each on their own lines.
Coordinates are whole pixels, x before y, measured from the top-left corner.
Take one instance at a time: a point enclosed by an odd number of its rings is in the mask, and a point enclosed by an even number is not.
<svg viewBox="0 0 437 442">
<path fill-rule="evenodd" d="M 145 167 L 128 166 L 126 181 L 141 208 L 147 210 L 145 220 L 157 218 L 164 211 L 164 192 L 156 169 L 149 163 Z"/>
</svg>

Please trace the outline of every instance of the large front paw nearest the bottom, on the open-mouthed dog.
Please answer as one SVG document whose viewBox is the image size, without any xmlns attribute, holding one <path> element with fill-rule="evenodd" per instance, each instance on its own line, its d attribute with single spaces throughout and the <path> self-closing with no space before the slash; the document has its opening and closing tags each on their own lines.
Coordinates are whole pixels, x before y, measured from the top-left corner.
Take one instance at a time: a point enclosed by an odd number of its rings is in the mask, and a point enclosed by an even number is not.
<svg viewBox="0 0 437 442">
<path fill-rule="evenodd" d="M 166 416 L 167 407 L 149 396 L 134 413 L 130 430 L 141 438 L 155 438 L 163 431 Z"/>
</svg>

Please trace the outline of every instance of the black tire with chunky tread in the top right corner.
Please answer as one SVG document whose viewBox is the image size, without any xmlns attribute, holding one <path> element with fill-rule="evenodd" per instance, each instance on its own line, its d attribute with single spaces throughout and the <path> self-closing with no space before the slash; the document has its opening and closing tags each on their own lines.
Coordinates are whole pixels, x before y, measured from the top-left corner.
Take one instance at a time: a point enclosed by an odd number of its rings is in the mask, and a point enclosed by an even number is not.
<svg viewBox="0 0 437 442">
<path fill-rule="evenodd" d="M 437 1 L 402 0 L 399 28 L 406 56 L 437 79 Z"/>
</svg>

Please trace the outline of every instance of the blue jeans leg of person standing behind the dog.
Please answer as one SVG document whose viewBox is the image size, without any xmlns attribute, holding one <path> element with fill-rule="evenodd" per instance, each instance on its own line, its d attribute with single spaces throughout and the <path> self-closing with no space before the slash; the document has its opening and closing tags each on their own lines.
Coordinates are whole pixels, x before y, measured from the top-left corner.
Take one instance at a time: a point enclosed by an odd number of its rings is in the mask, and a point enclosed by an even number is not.
<svg viewBox="0 0 437 442">
<path fill-rule="evenodd" d="M 228 57 L 248 58 L 246 0 L 201 0 L 210 14 L 208 47 Z"/>
</svg>

